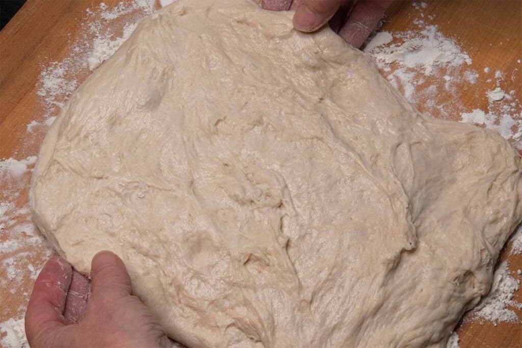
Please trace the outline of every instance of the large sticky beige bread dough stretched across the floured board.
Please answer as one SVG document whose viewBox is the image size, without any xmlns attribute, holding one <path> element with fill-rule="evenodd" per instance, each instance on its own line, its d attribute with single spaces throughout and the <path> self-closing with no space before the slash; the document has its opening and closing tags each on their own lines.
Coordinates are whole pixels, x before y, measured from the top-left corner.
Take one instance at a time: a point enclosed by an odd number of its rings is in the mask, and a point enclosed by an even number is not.
<svg viewBox="0 0 522 348">
<path fill-rule="evenodd" d="M 35 221 L 81 272 L 121 256 L 188 346 L 444 346 L 520 222 L 520 157 L 291 17 L 143 20 L 46 137 Z"/>
</svg>

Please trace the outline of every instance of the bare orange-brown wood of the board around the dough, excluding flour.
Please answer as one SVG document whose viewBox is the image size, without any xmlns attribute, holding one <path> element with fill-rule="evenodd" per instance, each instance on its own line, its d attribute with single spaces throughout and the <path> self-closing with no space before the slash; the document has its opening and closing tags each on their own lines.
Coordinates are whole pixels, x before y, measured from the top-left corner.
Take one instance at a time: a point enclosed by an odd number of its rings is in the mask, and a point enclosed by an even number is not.
<svg viewBox="0 0 522 348">
<path fill-rule="evenodd" d="M 120 0 L 104 0 L 109 7 Z M 42 121 L 49 113 L 41 98 L 37 95 L 39 75 L 42 68 L 50 62 L 60 62 L 70 54 L 72 44 L 80 33 L 85 33 L 86 9 L 97 6 L 99 0 L 29 0 L 19 13 L 0 32 L 0 158 L 15 159 L 35 155 L 45 134 L 40 127 L 28 135 L 26 126 L 33 120 Z M 504 81 L 504 90 L 515 90 L 518 98 L 522 97 L 522 66 L 517 59 L 522 58 L 522 2 L 520 1 L 444 1 L 428 2 L 423 9 L 424 15 L 434 16 L 432 22 L 447 37 L 455 38 L 464 51 L 473 60 L 473 68 L 482 71 L 484 67 L 509 71 L 509 78 Z M 413 20 L 418 11 L 410 2 L 396 2 L 388 10 L 388 21 L 383 30 L 399 32 L 419 30 Z M 111 22 L 115 32 L 121 31 L 121 23 Z M 90 71 L 79 70 L 76 79 L 81 82 Z M 487 110 L 487 91 L 495 87 L 495 81 L 487 82 L 480 76 L 472 87 L 463 88 L 458 93 L 438 98 L 458 99 L 462 110 Z M 437 111 L 422 101 L 417 104 L 421 111 L 437 115 Z M 56 111 L 55 111 L 56 112 Z M 454 119 L 458 119 L 455 114 Z M 0 201 L 13 201 L 17 207 L 27 205 L 27 189 L 30 175 L 18 178 L 17 183 L 0 183 Z M 13 195 L 18 194 L 13 199 Z M 27 220 L 28 217 L 19 217 Z M 0 230 L 0 242 L 12 237 Z M 28 260 L 34 265 L 41 265 L 47 257 L 46 246 L 31 246 Z M 23 248 L 22 248 L 23 251 Z M 27 251 L 27 250 L 26 250 Z M 20 250 L 16 251 L 17 253 Z M 9 253 L 0 255 L 0 265 Z M 509 261 L 513 277 L 516 270 L 522 268 L 522 255 L 513 256 L 503 253 L 502 259 Z M 26 262 L 27 260 L 22 260 Z M 27 261 L 27 262 L 29 262 Z M 20 261 L 21 262 L 21 261 Z M 29 273 L 29 271 L 25 271 Z M 6 271 L 0 269 L 0 279 L 6 279 Z M 0 322 L 11 317 L 19 317 L 23 312 L 32 286 L 33 279 L 24 274 L 21 282 L 16 283 L 13 293 L 12 281 L 0 287 Z M 522 302 L 522 292 L 515 294 L 515 299 Z M 517 310 L 519 318 L 522 313 Z M 463 323 L 458 333 L 461 347 L 519 347 L 522 346 L 522 325 L 520 323 Z"/>
</svg>

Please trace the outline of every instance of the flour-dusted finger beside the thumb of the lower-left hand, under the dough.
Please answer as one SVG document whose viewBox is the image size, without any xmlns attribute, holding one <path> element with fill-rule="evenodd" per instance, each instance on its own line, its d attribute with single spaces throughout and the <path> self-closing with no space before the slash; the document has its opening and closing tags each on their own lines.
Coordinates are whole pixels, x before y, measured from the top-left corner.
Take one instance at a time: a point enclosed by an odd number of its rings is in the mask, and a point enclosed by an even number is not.
<svg viewBox="0 0 522 348">
<path fill-rule="evenodd" d="M 89 287 L 89 279 L 73 270 L 64 309 L 67 324 L 77 323 L 84 317 L 89 298 Z"/>
</svg>

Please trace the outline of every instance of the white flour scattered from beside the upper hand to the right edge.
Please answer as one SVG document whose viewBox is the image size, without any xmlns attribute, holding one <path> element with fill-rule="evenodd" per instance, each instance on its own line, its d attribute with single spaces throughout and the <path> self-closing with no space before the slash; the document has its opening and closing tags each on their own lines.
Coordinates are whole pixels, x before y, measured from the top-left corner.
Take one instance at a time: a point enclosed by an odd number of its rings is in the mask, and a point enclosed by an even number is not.
<svg viewBox="0 0 522 348">
<path fill-rule="evenodd" d="M 379 32 L 367 42 L 364 52 L 375 60 L 388 81 L 411 103 L 442 118 L 461 115 L 462 122 L 495 130 L 516 149 L 522 150 L 522 105 L 515 91 L 502 89 L 507 74 L 496 70 L 493 76 L 487 76 L 492 70 L 490 67 L 472 68 L 471 57 L 461 50 L 458 43 L 445 37 L 437 26 L 431 24 L 433 16 L 423 16 L 425 7 L 419 3 L 412 6 L 419 10 L 419 17 L 413 19 L 418 30 Z M 480 70 L 487 81 L 480 79 Z M 460 102 L 461 91 L 476 89 L 473 85 L 480 82 L 492 81 L 496 87 L 485 96 L 488 109 L 466 110 Z"/>
</svg>

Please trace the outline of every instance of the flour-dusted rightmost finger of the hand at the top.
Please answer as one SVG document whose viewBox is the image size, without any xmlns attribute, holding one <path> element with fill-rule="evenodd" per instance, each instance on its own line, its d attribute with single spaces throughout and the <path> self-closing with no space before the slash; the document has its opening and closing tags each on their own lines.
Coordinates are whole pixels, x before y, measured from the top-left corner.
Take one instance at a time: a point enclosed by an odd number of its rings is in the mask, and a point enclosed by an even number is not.
<svg viewBox="0 0 522 348">
<path fill-rule="evenodd" d="M 354 47 L 361 47 L 377 27 L 391 0 L 360 0 L 353 6 L 345 25 L 339 30 L 341 38 Z"/>
</svg>

